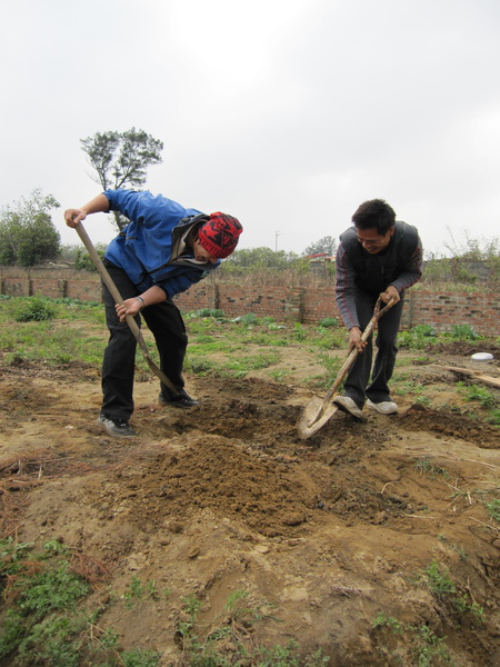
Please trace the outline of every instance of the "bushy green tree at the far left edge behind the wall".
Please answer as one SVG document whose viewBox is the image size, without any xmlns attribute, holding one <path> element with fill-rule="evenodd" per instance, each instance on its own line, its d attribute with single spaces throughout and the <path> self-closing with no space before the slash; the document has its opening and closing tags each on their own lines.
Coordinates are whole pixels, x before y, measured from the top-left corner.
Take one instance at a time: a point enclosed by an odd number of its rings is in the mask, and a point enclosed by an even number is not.
<svg viewBox="0 0 500 667">
<path fill-rule="evenodd" d="M 0 263 L 32 267 L 44 259 L 54 259 L 61 238 L 53 226 L 50 210 L 59 202 L 40 189 L 29 199 L 22 198 L 0 213 Z"/>
</svg>

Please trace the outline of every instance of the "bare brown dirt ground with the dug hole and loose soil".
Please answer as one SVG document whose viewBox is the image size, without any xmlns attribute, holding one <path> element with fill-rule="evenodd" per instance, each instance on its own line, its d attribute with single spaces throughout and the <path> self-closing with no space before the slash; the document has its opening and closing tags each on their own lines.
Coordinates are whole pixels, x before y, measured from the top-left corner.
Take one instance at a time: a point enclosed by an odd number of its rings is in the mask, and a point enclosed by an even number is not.
<svg viewBox="0 0 500 667">
<path fill-rule="evenodd" d="M 299 378 L 300 358 L 290 359 Z M 457 380 L 431 364 L 412 372 L 437 404 Z M 500 376 L 497 364 L 488 372 Z M 296 424 L 313 395 L 298 379 L 188 376 L 202 401 L 188 411 L 160 407 L 157 385 L 137 384 L 140 435 L 118 440 L 96 425 L 96 372 L 19 366 L 0 378 L 3 534 L 38 545 L 58 537 L 106 564 L 93 599 L 107 605 L 100 627 L 119 631 L 123 648 L 181 664 L 186 598 L 202 601 L 207 637 L 244 590 L 246 605 L 267 615 L 240 638 L 293 638 L 331 666 L 451 664 L 423 661 L 422 628 L 446 637 L 457 666 L 500 664 L 499 524 L 484 507 L 499 498 L 498 428 L 408 395 L 397 416 L 360 424 L 338 412 L 301 440 Z M 456 593 L 431 591 L 432 563 Z M 169 595 L 128 608 L 133 577 Z M 402 631 L 373 627 L 377 617 Z M 221 645 L 228 655 L 231 641 Z"/>
</svg>

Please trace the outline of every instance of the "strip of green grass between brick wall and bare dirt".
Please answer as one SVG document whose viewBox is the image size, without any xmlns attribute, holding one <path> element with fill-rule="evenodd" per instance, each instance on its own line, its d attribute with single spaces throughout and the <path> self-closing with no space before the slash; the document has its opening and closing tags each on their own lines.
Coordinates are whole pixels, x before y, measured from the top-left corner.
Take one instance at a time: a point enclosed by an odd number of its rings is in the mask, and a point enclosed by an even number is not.
<svg viewBox="0 0 500 667">
<path fill-rule="evenodd" d="M 16 321 L 14 316 L 19 311 L 34 312 L 38 313 L 37 317 L 49 311 L 51 319 Z M 277 323 L 273 318 L 259 318 L 254 313 L 230 320 L 219 309 L 201 309 L 186 313 L 184 320 L 189 336 L 184 369 L 199 377 L 243 378 L 251 371 L 276 366 L 267 374 L 268 377 L 276 381 L 284 378 L 293 381 L 294 369 L 289 365 L 280 367 L 287 360 L 287 350 L 290 349 L 296 357 L 303 354 L 304 364 L 322 369 L 318 372 L 314 368 L 306 380 L 300 381 L 312 390 L 326 391 L 347 358 L 348 336 L 344 327 L 336 323 L 334 318 L 326 318 L 317 325 Z M 100 369 L 108 340 L 104 308 L 101 303 L 44 297 L 3 298 L 0 299 L 0 356 L 7 367 L 38 364 L 49 367 L 74 366 L 80 369 L 83 364 L 96 371 Z M 159 364 L 151 332 L 146 326 L 142 331 L 151 359 Z M 401 347 L 414 349 L 420 358 L 423 358 L 420 352 L 422 348 L 458 339 L 476 340 L 477 336 L 468 326 L 457 326 L 450 332 L 437 335 L 427 325 L 399 335 Z M 342 352 L 332 354 L 332 350 Z M 424 360 L 429 361 L 428 356 Z M 406 359 L 398 359 L 391 384 L 394 395 L 410 396 L 414 402 L 430 406 L 432 401 L 429 398 L 429 386 L 417 381 L 408 364 L 410 361 L 407 362 Z M 138 377 L 150 377 L 151 371 L 139 349 L 136 365 L 142 374 Z M 469 411 L 470 418 L 483 419 L 500 427 L 500 409 L 493 391 L 463 384 L 459 389 L 453 388 L 453 391 L 457 400 L 478 407 L 478 414 Z M 449 401 L 450 410 L 460 412 L 452 407 L 453 399 Z M 442 409 L 446 411 L 447 405 Z"/>
</svg>

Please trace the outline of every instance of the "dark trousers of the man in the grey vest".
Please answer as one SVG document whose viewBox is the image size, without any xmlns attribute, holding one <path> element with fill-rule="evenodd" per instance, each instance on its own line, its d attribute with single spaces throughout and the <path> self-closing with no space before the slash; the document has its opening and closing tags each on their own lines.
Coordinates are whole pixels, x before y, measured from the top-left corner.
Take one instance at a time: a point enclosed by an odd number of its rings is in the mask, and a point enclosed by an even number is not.
<svg viewBox="0 0 500 667">
<path fill-rule="evenodd" d="M 366 329 L 373 315 L 377 298 L 377 295 L 362 291 L 358 291 L 356 296 L 356 309 L 361 330 Z M 373 368 L 373 336 L 370 336 L 367 347 L 358 355 L 348 374 L 343 386 L 343 394 L 352 398 L 359 408 L 363 407 L 367 398 L 373 402 L 391 400 L 389 380 L 392 377 L 396 355 L 398 354 L 396 338 L 401 323 L 402 307 L 403 299 L 387 310 L 379 320 L 376 338 L 378 350 Z"/>
</svg>

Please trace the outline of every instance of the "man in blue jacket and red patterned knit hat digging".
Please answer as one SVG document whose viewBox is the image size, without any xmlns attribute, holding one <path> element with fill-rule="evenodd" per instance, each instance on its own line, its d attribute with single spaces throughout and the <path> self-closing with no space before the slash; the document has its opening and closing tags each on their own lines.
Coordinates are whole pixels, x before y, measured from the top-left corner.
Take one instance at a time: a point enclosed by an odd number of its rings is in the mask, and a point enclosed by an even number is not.
<svg viewBox="0 0 500 667">
<path fill-rule="evenodd" d="M 98 424 L 110 435 L 132 437 L 137 340 L 126 316 L 144 318 L 160 355 L 160 368 L 176 387 L 160 385 L 159 400 L 179 408 L 199 404 L 184 389 L 188 337 L 172 298 L 213 271 L 236 249 L 241 223 L 226 213 L 206 215 L 149 191 L 106 190 L 81 208 L 64 211 L 69 227 L 98 212 L 119 211 L 129 223 L 109 243 L 103 263 L 123 303 L 103 283 L 110 332 L 102 362 L 102 407 Z"/>
</svg>

